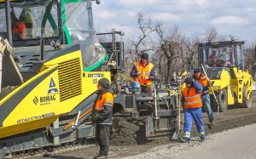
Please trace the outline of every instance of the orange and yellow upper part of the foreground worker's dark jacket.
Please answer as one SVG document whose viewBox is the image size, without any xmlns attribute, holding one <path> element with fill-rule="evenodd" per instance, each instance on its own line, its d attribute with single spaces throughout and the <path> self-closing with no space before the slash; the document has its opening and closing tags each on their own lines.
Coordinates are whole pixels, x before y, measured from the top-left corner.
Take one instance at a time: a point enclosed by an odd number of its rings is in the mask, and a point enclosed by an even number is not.
<svg viewBox="0 0 256 159">
<path fill-rule="evenodd" d="M 107 92 L 105 94 L 100 95 L 96 100 L 95 110 L 104 110 L 104 104 L 109 104 L 113 106 L 113 94 Z"/>
</svg>

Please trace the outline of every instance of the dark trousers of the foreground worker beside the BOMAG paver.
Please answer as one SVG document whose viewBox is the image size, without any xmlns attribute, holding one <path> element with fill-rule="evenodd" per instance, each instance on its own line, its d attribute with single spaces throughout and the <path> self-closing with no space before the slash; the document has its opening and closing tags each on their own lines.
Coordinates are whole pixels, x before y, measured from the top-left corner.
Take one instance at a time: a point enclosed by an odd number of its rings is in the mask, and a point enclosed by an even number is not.
<svg viewBox="0 0 256 159">
<path fill-rule="evenodd" d="M 110 126 L 96 125 L 96 139 L 100 145 L 100 154 L 108 156 Z"/>
</svg>

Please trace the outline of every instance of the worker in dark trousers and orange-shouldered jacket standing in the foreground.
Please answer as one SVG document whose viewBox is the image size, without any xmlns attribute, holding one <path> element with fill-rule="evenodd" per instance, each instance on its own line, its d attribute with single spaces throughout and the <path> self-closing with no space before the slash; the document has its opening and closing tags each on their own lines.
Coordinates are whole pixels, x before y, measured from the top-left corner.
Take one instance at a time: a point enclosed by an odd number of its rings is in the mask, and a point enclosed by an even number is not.
<svg viewBox="0 0 256 159">
<path fill-rule="evenodd" d="M 113 116 L 113 91 L 107 78 L 99 80 L 97 99 L 92 111 L 92 121 L 96 123 L 96 139 L 100 153 L 95 158 L 108 158 L 109 136 Z"/>
</svg>

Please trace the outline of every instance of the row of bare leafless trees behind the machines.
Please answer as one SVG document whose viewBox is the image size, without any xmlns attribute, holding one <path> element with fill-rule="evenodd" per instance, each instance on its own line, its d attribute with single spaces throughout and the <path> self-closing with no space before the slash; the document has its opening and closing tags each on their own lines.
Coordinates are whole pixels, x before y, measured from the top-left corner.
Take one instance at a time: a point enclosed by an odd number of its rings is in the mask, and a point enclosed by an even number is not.
<svg viewBox="0 0 256 159">
<path fill-rule="evenodd" d="M 199 36 L 187 36 L 179 31 L 177 26 L 169 30 L 162 23 L 152 23 L 150 19 L 145 20 L 142 13 L 137 14 L 137 24 L 139 36 L 136 40 L 131 41 L 129 54 L 134 54 L 133 58 L 135 58 L 143 52 L 151 51 L 155 68 L 160 72 L 160 76 L 166 78 L 166 82 L 170 82 L 174 71 L 189 71 L 197 66 L 198 50 L 195 43 L 235 38 L 229 35 L 218 35 L 218 31 L 214 27 L 206 31 L 203 39 Z M 155 41 L 153 33 L 159 37 L 157 41 Z M 245 49 L 247 68 L 251 67 L 255 61 L 252 56 L 253 49 L 253 47 Z"/>
</svg>

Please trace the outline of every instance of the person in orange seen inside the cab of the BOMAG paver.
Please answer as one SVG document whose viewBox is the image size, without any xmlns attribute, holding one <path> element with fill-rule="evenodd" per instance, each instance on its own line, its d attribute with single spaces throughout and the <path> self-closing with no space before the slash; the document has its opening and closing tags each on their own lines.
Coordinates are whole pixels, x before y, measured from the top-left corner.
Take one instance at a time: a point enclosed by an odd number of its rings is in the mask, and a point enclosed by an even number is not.
<svg viewBox="0 0 256 159">
<path fill-rule="evenodd" d="M 26 39 L 26 25 L 25 22 L 18 20 L 14 12 L 11 12 L 13 38 L 14 40 Z"/>
</svg>

